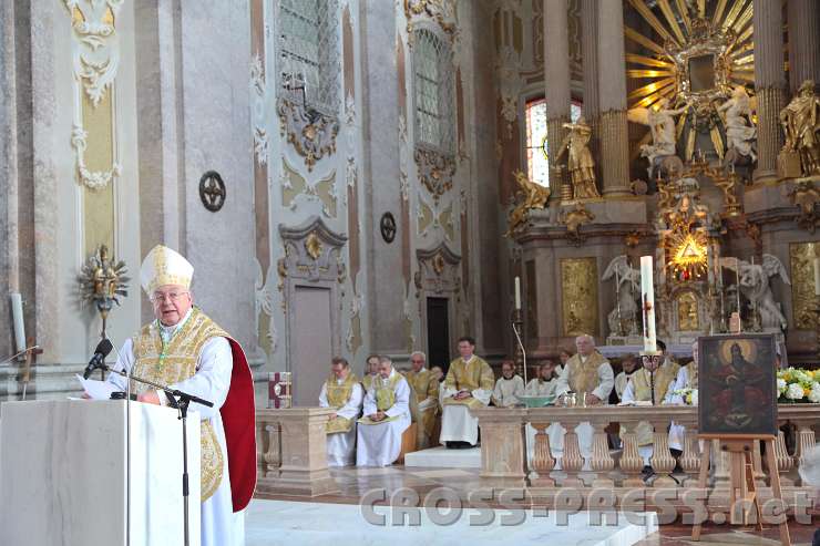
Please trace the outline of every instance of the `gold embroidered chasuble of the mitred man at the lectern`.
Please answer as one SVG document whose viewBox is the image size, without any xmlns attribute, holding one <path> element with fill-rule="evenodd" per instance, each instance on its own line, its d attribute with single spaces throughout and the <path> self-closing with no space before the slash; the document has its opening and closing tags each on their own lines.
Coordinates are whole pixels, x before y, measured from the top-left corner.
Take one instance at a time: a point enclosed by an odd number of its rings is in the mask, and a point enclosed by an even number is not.
<svg viewBox="0 0 820 546">
<path fill-rule="evenodd" d="M 154 383 L 173 385 L 192 378 L 205 343 L 216 337 L 230 336 L 198 308 L 193 308 L 185 323 L 165 343 L 156 321 L 143 327 L 133 339 L 135 364 L 132 373 Z M 142 394 L 152 388 L 131 381 L 131 392 Z M 211 420 L 199 425 L 202 445 L 202 502 L 207 501 L 222 483 L 225 459 Z"/>
</svg>

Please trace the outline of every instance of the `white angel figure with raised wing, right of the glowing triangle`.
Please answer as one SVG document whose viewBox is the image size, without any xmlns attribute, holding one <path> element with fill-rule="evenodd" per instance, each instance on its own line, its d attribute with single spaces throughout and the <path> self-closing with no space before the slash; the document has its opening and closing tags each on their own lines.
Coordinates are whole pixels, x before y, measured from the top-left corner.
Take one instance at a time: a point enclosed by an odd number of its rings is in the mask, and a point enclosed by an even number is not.
<svg viewBox="0 0 820 546">
<path fill-rule="evenodd" d="M 750 264 L 746 260 L 736 261 L 734 258 L 721 258 L 720 264 L 731 271 L 740 269 L 740 292 L 760 313 L 760 326 L 763 330 L 786 330 L 788 323 L 780 310 L 780 305 L 775 300 L 775 295 L 771 292 L 769 279 L 779 275 L 787 285 L 791 285 L 791 280 L 789 280 L 789 275 L 777 256 L 765 254 L 762 264 Z"/>
</svg>

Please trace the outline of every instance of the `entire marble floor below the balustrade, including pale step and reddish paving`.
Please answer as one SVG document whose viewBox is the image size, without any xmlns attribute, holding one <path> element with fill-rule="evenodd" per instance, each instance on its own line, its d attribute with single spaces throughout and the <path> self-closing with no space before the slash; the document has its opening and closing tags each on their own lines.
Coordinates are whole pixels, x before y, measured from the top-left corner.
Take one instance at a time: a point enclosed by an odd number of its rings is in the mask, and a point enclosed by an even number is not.
<svg viewBox="0 0 820 546">
<path fill-rule="evenodd" d="M 347 544 L 370 544 L 379 542 L 389 546 L 403 544 L 428 545 L 442 544 L 441 540 L 449 537 L 449 528 L 463 529 L 464 533 L 475 539 L 481 537 L 495 537 L 494 544 L 529 544 L 530 540 L 545 538 L 550 534 L 547 544 L 555 545 L 592 545 L 606 544 L 635 544 L 636 546 L 776 546 L 780 544 L 777 527 L 758 532 L 754 527 L 732 527 L 729 525 L 706 525 L 701 540 L 691 543 L 689 537 L 691 528 L 681 524 L 664 525 L 658 529 L 646 528 L 640 532 L 640 526 L 634 528 L 617 527 L 613 535 L 605 537 L 598 529 L 586 529 L 591 526 L 582 525 L 582 518 L 586 514 L 576 514 L 571 518 L 572 526 L 550 526 L 555 523 L 550 517 L 544 517 L 537 512 L 527 512 L 523 523 L 519 525 L 502 525 L 501 517 L 509 515 L 509 506 L 531 507 L 524 502 L 499 502 L 499 499 L 485 502 L 485 506 L 496 508 L 493 511 L 493 521 L 485 526 L 471 526 L 470 517 L 476 512 L 470 508 L 481 507 L 470 502 L 470 494 L 482 488 L 476 468 L 433 468 L 433 467 L 406 467 L 389 466 L 385 468 L 332 468 L 332 476 L 339 485 L 339 493 L 322 495 L 306 499 L 304 497 L 275 495 L 265 499 L 255 498 L 246 515 L 246 544 L 257 545 L 299 545 L 299 544 L 335 544 L 345 546 Z M 377 505 L 373 508 L 376 515 L 387 515 L 387 524 L 390 524 L 390 513 L 386 508 L 388 499 L 396 504 L 397 499 L 404 499 L 411 506 L 429 506 L 438 499 L 441 490 L 445 488 L 453 494 L 453 501 L 460 499 L 464 508 L 459 521 L 453 525 L 444 526 L 430 521 L 424 509 L 418 511 L 420 525 L 375 525 L 368 523 L 361 508 L 361 498 L 376 496 Z M 383 501 L 380 501 L 383 498 Z M 269 502 L 273 501 L 273 502 Z M 502 506 L 503 504 L 503 506 Z M 322 509 L 324 506 L 324 509 Z M 442 511 L 443 513 L 443 511 Z M 535 515 L 537 514 L 537 515 Z M 550 513 L 554 517 L 554 511 Z M 517 523 L 517 522 L 513 522 Z M 586 522 L 584 522 L 585 524 Z M 626 525 L 625 518 L 619 518 L 618 524 Z M 814 528 L 820 526 L 820 512 L 813 512 L 811 525 L 789 524 L 792 544 L 795 546 L 810 546 Z M 596 527 L 596 526 L 592 526 Z M 601 526 L 597 526 L 601 527 Z M 606 528 L 606 527 L 603 527 Z M 394 532 L 394 530 L 398 530 Z M 483 530 L 482 530 L 483 529 Z M 568 535 L 563 534 L 566 529 L 573 529 Z M 476 534 L 478 533 L 478 534 Z M 345 535 L 344 537 L 340 534 Z M 289 537 L 287 542 L 283 537 Z M 557 539 L 560 537 L 560 539 Z M 303 542 L 306 540 L 306 542 Z M 458 544 L 483 544 L 471 538 L 464 543 L 459 538 Z M 564 542 L 577 539 L 577 542 Z M 587 540 L 588 539 L 588 540 Z M 607 542 L 608 540 L 608 542 Z M 627 540 L 627 542 L 623 542 Z M 451 543 L 452 544 L 452 543 Z"/>
</svg>

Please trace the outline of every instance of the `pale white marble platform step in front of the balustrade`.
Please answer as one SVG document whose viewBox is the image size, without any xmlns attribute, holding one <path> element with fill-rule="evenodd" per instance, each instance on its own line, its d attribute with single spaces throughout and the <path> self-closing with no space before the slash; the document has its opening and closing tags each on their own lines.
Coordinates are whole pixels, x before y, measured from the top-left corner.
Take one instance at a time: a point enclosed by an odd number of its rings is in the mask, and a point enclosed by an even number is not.
<svg viewBox="0 0 820 546">
<path fill-rule="evenodd" d="M 255 499 L 245 516 L 245 544 L 632 546 L 657 529 L 655 514 L 619 514 L 605 525 L 591 524 L 586 513 L 416 508 L 399 516 L 399 509 Z"/>
</svg>

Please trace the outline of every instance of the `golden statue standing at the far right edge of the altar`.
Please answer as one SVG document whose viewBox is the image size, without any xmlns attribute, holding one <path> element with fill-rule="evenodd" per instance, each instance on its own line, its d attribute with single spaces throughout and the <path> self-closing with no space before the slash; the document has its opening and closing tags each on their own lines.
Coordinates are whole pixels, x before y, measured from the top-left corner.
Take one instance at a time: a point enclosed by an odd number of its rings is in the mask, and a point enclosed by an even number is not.
<svg viewBox="0 0 820 546">
<path fill-rule="evenodd" d="M 799 156 L 802 176 L 820 174 L 819 111 L 820 99 L 814 94 L 813 80 L 806 80 L 797 96 L 780 111 L 780 124 L 786 133 L 781 154 Z"/>
</svg>

